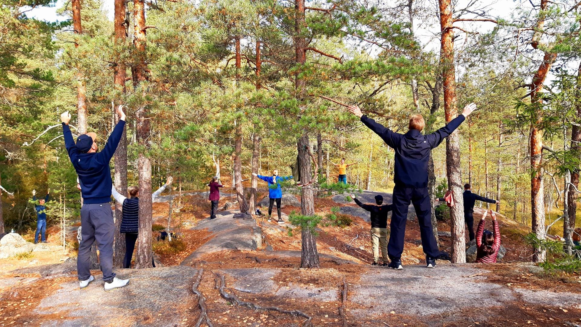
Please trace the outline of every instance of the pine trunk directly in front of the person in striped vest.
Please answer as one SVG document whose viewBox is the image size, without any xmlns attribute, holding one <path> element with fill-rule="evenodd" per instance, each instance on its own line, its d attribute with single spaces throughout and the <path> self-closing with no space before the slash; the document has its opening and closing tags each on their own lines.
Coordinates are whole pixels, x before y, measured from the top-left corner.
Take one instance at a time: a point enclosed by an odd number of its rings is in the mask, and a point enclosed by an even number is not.
<svg viewBox="0 0 581 327">
<path fill-rule="evenodd" d="M 144 0 L 133 1 L 133 17 L 134 17 L 134 34 L 133 44 L 135 48 L 135 57 L 137 58 L 137 65 L 132 69 L 134 86 L 142 87 L 142 97 L 145 98 L 145 88 L 143 82 L 146 81 L 146 30 L 145 30 L 145 3 Z M 142 150 L 137 157 L 137 168 L 139 176 L 139 193 L 143 196 L 139 197 L 139 229 L 137 241 L 137 260 L 135 268 L 151 268 L 152 267 L 152 199 L 151 194 L 151 162 L 146 157 L 144 151 L 147 148 L 149 140 L 149 109 L 146 105 L 137 109 L 137 144 Z"/>
</svg>

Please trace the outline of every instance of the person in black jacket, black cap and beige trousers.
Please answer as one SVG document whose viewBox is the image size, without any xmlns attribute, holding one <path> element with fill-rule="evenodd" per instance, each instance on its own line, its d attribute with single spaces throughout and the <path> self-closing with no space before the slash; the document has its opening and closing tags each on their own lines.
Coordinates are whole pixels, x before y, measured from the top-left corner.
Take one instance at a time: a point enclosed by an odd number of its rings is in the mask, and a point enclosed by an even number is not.
<svg viewBox="0 0 581 327">
<path fill-rule="evenodd" d="M 375 196 L 375 203 L 377 205 L 361 203 L 361 201 L 357 200 L 353 194 L 351 194 L 351 197 L 359 207 L 371 212 L 370 233 L 371 247 L 373 248 L 372 265 L 378 265 L 379 246 L 381 246 L 381 258 L 383 260 L 383 265 L 388 265 L 388 212 L 392 211 L 393 205 L 381 205 L 383 203 L 383 197 L 380 194 Z"/>
</svg>

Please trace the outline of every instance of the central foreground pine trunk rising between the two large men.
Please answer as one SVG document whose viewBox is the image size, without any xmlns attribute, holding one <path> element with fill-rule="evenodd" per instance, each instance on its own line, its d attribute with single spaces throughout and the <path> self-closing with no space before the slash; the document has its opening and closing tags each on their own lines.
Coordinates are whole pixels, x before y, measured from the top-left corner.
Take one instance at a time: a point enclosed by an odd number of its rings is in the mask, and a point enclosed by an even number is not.
<svg viewBox="0 0 581 327">
<path fill-rule="evenodd" d="M 295 62 L 301 66 L 299 72 L 295 75 L 295 97 L 299 102 L 300 114 L 304 112 L 306 107 L 306 81 L 300 76 L 303 66 L 307 62 L 306 47 L 307 41 L 303 34 L 303 28 L 306 27 L 304 19 L 304 0 L 295 1 L 295 35 L 293 41 L 295 43 Z M 311 159 L 309 155 L 309 132 L 307 127 L 299 140 L 297 140 L 297 150 L 299 152 L 299 166 L 300 179 L 303 184 L 311 182 Z M 314 215 L 314 190 L 313 186 L 305 186 L 301 189 L 302 200 L 300 201 L 301 214 L 306 216 Z M 317 252 L 317 240 L 314 234 L 308 230 L 303 229 L 301 232 L 301 255 L 300 267 L 313 268 L 319 266 L 319 254 Z"/>
</svg>

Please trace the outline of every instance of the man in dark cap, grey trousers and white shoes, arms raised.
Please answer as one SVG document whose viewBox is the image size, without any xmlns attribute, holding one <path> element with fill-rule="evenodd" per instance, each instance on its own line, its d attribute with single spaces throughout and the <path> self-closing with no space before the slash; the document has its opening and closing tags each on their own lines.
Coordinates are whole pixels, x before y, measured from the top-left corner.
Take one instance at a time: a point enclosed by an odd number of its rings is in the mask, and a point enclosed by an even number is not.
<svg viewBox="0 0 581 327">
<path fill-rule="evenodd" d="M 87 133 L 77 137 L 77 143 L 69 128 L 70 113 L 63 112 L 60 119 L 63 122 L 64 146 L 69 158 L 77 171 L 81 185 L 81 241 L 78 246 L 77 274 L 80 287 L 84 289 L 95 278 L 89 271 L 91 246 L 96 241 L 99 246 L 99 262 L 105 280 L 105 290 L 123 287 L 128 279 L 118 279 L 113 272 L 113 237 L 115 223 L 111 211 L 111 171 L 109 161 L 113 157 L 125 128 L 125 113 L 123 106 L 117 108 L 119 123 L 111 132 L 107 144 L 101 152 L 97 152 L 96 134 Z"/>
</svg>

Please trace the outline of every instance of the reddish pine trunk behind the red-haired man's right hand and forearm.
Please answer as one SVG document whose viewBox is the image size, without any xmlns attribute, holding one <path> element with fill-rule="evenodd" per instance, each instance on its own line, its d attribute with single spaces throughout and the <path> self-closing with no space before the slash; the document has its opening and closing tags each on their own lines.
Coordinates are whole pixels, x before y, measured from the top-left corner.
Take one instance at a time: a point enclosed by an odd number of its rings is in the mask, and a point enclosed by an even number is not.
<svg viewBox="0 0 581 327">
<path fill-rule="evenodd" d="M 451 0 L 439 0 L 440 28 L 440 65 L 444 86 L 444 112 L 446 122 L 457 115 L 456 108 L 456 73 L 454 70 L 454 29 Z M 466 262 L 466 241 L 464 235 L 464 206 L 462 200 L 462 176 L 460 172 L 460 137 L 454 131 L 446 140 L 446 170 L 448 187 L 452 190 L 454 207 L 450 208 L 452 262 Z"/>
</svg>

